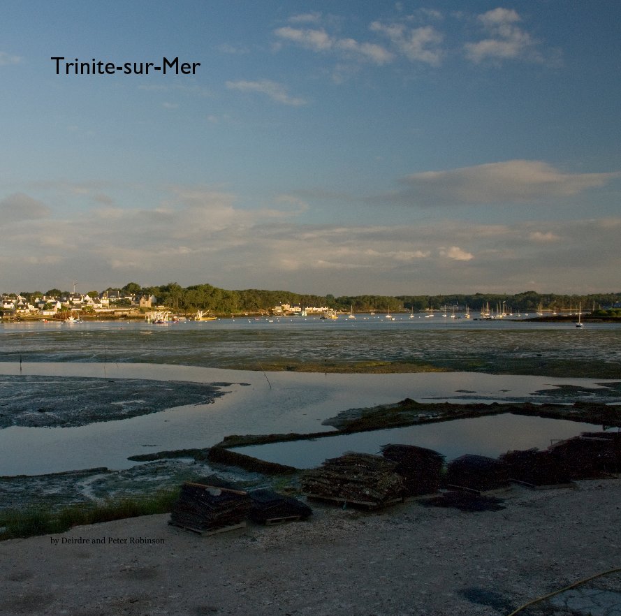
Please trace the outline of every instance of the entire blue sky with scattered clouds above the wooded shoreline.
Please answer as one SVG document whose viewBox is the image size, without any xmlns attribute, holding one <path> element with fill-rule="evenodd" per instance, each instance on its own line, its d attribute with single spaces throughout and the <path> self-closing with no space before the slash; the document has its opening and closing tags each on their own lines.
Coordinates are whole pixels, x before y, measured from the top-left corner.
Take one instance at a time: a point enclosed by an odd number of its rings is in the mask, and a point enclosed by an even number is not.
<svg viewBox="0 0 621 616">
<path fill-rule="evenodd" d="M 617 0 L 4 1 L 0 293 L 621 291 L 620 67 Z"/>
</svg>

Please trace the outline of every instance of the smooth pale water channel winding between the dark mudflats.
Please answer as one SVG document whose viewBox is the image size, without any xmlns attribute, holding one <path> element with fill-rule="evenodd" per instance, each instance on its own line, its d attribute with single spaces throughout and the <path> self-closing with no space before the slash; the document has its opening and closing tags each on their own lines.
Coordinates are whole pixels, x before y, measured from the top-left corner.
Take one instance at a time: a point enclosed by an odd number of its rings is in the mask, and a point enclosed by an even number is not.
<svg viewBox="0 0 621 616">
<path fill-rule="evenodd" d="M 170 349 L 180 352 L 176 344 L 170 346 Z M 208 447 L 231 434 L 306 433 L 322 430 L 328 432 L 332 429 L 323 426 L 323 420 L 334 417 L 341 411 L 388 404 L 406 397 L 419 401 L 432 399 L 434 402 L 444 400 L 459 402 L 462 399 L 468 399 L 469 402 L 472 402 L 472 399 L 487 402 L 523 399 L 544 402 L 556 400 L 556 385 L 573 384 L 597 390 L 598 383 L 606 383 L 601 379 L 597 381 L 553 379 L 543 376 L 472 372 L 430 374 L 273 372 L 269 374 L 268 382 L 262 372 L 93 361 L 23 362 L 21 366 L 17 362 L 0 362 L 0 372 L 16 375 L 233 383 L 230 387 L 222 388 L 226 394 L 214 404 L 176 407 L 175 401 L 171 400 L 170 408 L 166 411 L 121 421 L 94 423 L 82 427 L 10 427 L 0 430 L 0 475 L 43 474 L 89 467 L 126 469 L 135 464 L 127 459 L 130 455 L 158 450 Z M 238 383 L 248 385 L 241 386 Z M 592 395 L 589 399 L 592 399 Z M 0 399 L 1 404 L 8 402 L 6 399 Z M 606 399 L 606 402 L 614 400 Z M 444 430 L 448 425 L 437 424 L 434 429 Z M 577 426 L 573 423 L 571 425 Z M 481 430 L 485 434 L 490 428 L 482 425 L 473 430 L 475 433 Z M 496 432 L 504 430 L 506 428 L 499 428 Z M 532 427 L 518 432 L 537 434 L 540 430 L 539 427 Z M 549 438 L 563 436 L 563 434 L 550 434 Z M 369 445 L 373 453 L 377 452 L 379 445 L 397 441 L 396 435 L 379 433 L 379 437 L 379 441 Z M 402 437 L 399 439 L 401 441 Z M 451 441 L 460 442 L 457 436 L 449 437 L 445 442 Z M 419 444 L 425 446 L 424 443 Z M 434 441 L 430 441 L 429 446 L 437 448 Z M 509 444 L 507 448 L 514 446 L 518 445 Z M 529 441 L 527 446 L 538 445 L 530 444 Z M 450 455 L 450 451 L 447 450 L 446 455 Z"/>
</svg>

